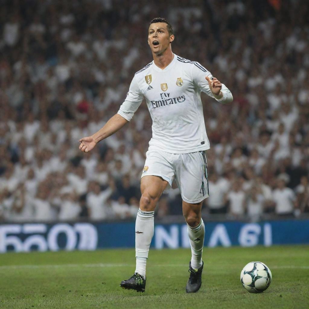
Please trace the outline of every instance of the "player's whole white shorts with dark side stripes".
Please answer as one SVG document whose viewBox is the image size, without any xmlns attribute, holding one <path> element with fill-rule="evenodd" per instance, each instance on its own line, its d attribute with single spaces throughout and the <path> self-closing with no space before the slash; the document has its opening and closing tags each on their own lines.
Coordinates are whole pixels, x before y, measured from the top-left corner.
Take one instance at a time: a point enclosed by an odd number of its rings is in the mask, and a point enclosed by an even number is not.
<svg viewBox="0 0 309 309">
<path fill-rule="evenodd" d="M 148 150 L 143 176 L 160 176 L 170 186 L 176 179 L 182 199 L 190 204 L 209 197 L 205 151 L 171 154 L 162 150 Z"/>
</svg>

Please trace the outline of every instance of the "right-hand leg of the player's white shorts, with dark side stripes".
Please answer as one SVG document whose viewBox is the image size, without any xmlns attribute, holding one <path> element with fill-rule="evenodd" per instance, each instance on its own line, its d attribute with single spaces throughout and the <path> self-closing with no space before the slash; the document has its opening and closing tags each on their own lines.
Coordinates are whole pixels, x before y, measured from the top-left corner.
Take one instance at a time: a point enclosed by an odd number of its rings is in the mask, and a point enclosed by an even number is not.
<svg viewBox="0 0 309 309">
<path fill-rule="evenodd" d="M 181 197 L 198 204 L 209 197 L 207 161 L 204 151 L 182 154 L 176 164 L 176 181 Z"/>
</svg>

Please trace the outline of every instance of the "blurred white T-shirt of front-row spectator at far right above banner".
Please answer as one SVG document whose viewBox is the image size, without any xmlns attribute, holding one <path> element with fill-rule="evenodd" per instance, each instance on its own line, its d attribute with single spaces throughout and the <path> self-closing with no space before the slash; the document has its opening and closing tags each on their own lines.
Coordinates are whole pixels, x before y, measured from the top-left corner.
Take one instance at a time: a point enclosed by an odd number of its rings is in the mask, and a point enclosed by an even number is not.
<svg viewBox="0 0 309 309">
<path fill-rule="evenodd" d="M 294 210 L 295 194 L 290 188 L 278 188 L 273 191 L 273 201 L 276 214 L 289 214 Z"/>
</svg>

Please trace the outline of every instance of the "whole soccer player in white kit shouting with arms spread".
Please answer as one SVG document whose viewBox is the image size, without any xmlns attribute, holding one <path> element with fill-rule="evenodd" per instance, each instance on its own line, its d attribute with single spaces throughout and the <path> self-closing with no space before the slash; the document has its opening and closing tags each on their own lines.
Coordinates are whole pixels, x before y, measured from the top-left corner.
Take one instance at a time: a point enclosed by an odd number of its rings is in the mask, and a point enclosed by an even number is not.
<svg viewBox="0 0 309 309">
<path fill-rule="evenodd" d="M 135 73 L 118 113 L 97 133 L 81 138 L 79 149 L 88 152 L 129 122 L 146 98 L 152 118 L 152 138 L 142 172 L 140 206 L 135 223 L 136 269 L 120 286 L 145 291 L 146 260 L 154 235 L 154 210 L 159 197 L 175 179 L 188 225 L 192 257 L 186 292 L 201 287 L 205 226 L 203 200 L 209 196 L 205 150 L 206 135 L 201 91 L 218 102 L 232 102 L 231 91 L 196 61 L 172 53 L 174 34 L 167 19 L 155 18 L 148 29 L 153 61 Z"/>
</svg>

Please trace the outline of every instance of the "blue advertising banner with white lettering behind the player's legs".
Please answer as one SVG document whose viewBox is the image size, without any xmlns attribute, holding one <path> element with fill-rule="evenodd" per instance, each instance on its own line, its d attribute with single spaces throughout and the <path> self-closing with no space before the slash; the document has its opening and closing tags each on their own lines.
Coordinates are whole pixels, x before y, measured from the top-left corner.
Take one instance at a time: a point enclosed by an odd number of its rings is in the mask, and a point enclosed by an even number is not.
<svg viewBox="0 0 309 309">
<path fill-rule="evenodd" d="M 135 222 L 24 223 L 0 225 L 0 253 L 95 250 L 135 246 Z M 259 223 L 205 222 L 205 246 L 271 246 L 309 243 L 309 220 Z M 189 248 L 186 224 L 157 224 L 151 246 Z"/>
</svg>

